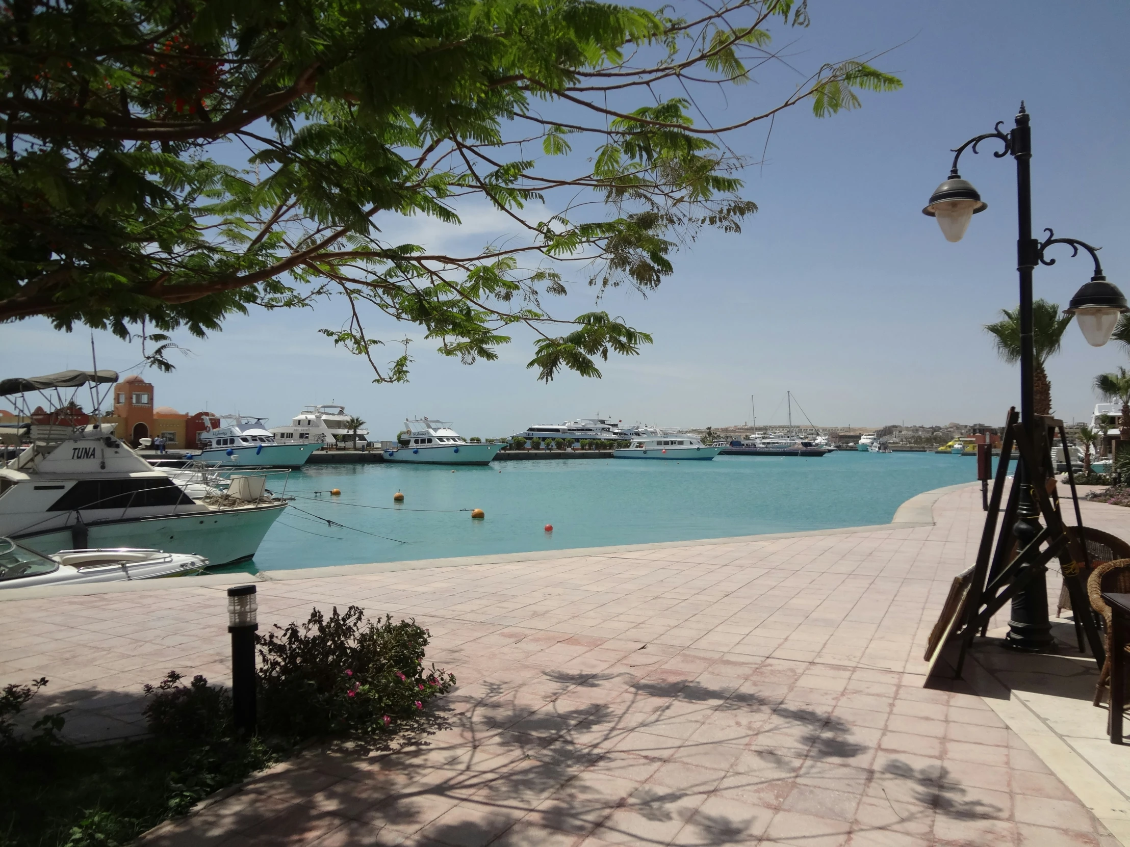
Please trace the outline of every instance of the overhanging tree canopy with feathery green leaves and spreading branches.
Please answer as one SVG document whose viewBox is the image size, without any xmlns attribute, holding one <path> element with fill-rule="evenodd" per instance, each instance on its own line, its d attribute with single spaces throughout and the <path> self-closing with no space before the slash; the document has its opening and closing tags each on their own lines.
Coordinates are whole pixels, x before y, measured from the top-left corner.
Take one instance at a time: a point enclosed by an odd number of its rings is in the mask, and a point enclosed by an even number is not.
<svg viewBox="0 0 1130 847">
<path fill-rule="evenodd" d="M 379 364 L 373 309 L 467 363 L 524 324 L 540 378 L 599 376 L 597 359 L 650 337 L 603 312 L 556 318 L 547 295 L 654 289 L 680 238 L 756 210 L 725 133 L 901 86 L 828 63 L 714 126 L 696 88 L 748 81 L 776 58 L 770 28 L 808 15 L 794 0 L 695 9 L 3 0 L 0 320 L 203 335 L 252 305 L 340 296 L 351 318 L 322 332 L 377 381 L 407 378 L 410 357 L 406 343 Z M 476 200 L 515 237 L 469 255 L 382 237 L 395 217 L 458 224 Z"/>
</svg>

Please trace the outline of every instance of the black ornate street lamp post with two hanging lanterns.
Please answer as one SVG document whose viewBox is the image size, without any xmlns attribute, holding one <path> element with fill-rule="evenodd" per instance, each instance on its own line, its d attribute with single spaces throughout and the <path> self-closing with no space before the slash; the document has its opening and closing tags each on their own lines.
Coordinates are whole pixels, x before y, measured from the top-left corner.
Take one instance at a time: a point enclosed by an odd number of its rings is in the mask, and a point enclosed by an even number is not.
<svg viewBox="0 0 1130 847">
<path fill-rule="evenodd" d="M 1068 244 L 1072 254 L 1077 255 L 1083 247 L 1095 260 L 1095 273 L 1090 282 L 1080 288 L 1071 298 L 1067 313 L 1076 318 L 1087 342 L 1093 347 L 1102 347 L 1114 332 L 1119 315 L 1130 311 L 1125 297 L 1103 276 L 1098 263 L 1097 247 L 1075 238 L 1055 238 L 1051 229 L 1045 230 L 1048 239 L 1041 244 L 1032 237 L 1032 129 L 1028 125 L 1029 115 L 1020 104 L 1016 115 L 1016 125 L 1007 136 L 1001 132 L 1003 121 L 997 123 L 992 132 L 971 138 L 954 150 L 954 165 L 946 180 L 933 192 L 923 215 L 937 218 L 946 241 L 959 242 L 970 225 L 972 217 L 988 208 L 981 200 L 976 189 L 957 173 L 957 160 L 966 148 L 972 147 L 977 152 L 977 145 L 988 139 L 1002 142 L 1002 150 L 994 152 L 996 158 L 1009 154 L 1016 159 L 1016 199 L 1018 237 L 1016 242 L 1016 269 L 1020 276 L 1020 425 L 1028 436 L 1029 443 L 1035 431 L 1035 355 L 1032 339 L 1032 271 L 1038 263 L 1054 264 L 1054 259 L 1044 259 L 1044 251 L 1053 244 Z M 1001 456 L 1007 462 L 1007 456 Z M 1024 549 L 1040 532 L 1040 512 L 1032 498 L 1032 471 L 1020 461 L 1017 466 L 1016 484 L 1020 486 L 1017 507 L 1017 521 L 1012 533 L 1019 542 L 1018 549 Z M 1008 621 L 1006 645 L 1019 650 L 1049 652 L 1055 648 L 1051 634 L 1051 622 L 1048 619 L 1048 587 L 1044 579 L 1046 568 L 1042 565 L 1026 562 L 1024 568 L 1037 568 L 1031 573 L 1029 582 L 1024 591 L 1012 597 L 1012 609 Z M 1022 574 L 1023 576 L 1023 574 Z"/>
</svg>

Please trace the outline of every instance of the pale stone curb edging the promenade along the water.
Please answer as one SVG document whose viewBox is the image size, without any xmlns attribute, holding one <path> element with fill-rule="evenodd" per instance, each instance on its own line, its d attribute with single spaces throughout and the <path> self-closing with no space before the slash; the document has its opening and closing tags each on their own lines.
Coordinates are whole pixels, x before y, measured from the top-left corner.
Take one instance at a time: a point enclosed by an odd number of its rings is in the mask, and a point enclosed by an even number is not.
<svg viewBox="0 0 1130 847">
<path fill-rule="evenodd" d="M 497 553 L 494 556 L 461 556 L 445 559 L 411 559 L 408 561 L 377 561 L 362 565 L 331 565 L 322 568 L 297 568 L 293 570 L 261 570 L 258 574 L 209 574 L 207 576 L 180 576 L 169 579 L 141 579 L 137 582 L 97 583 L 94 585 L 43 586 L 37 588 L 8 588 L 0 591 L 0 602 L 12 600 L 37 600 L 43 597 L 87 596 L 93 594 L 116 594 L 136 591 L 165 591 L 167 588 L 226 588 L 229 585 L 250 582 L 287 582 L 290 579 L 324 579 L 336 576 L 358 576 L 364 574 L 388 574 L 398 570 L 425 570 L 427 568 L 460 568 L 470 565 L 514 565 L 529 561 L 554 561 L 577 556 L 608 556 L 640 550 L 663 550 L 681 547 L 713 547 L 749 542 L 770 542 L 780 539 L 806 538 L 809 535 L 842 535 L 855 532 L 889 532 L 919 526 L 933 526 L 933 505 L 941 497 L 976 482 L 946 486 L 923 491 L 906 500 L 895 512 L 889 524 L 873 526 L 843 526 L 831 530 L 803 530 L 800 532 L 775 532 L 762 535 L 734 535 L 721 539 L 693 539 L 689 541 L 657 541 L 641 544 L 617 544 L 612 547 L 582 547 L 568 550 L 537 550 L 524 553 Z"/>
</svg>

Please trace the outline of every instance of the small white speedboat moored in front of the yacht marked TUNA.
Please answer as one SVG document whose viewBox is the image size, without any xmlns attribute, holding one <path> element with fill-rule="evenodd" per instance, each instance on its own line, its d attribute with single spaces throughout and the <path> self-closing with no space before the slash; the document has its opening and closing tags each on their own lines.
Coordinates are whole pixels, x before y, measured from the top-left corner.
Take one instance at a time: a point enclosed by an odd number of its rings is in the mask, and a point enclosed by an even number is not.
<svg viewBox="0 0 1130 847">
<path fill-rule="evenodd" d="M 44 556 L 0 538 L 0 590 L 86 585 L 199 574 L 208 559 L 137 548 L 60 550 Z"/>
</svg>

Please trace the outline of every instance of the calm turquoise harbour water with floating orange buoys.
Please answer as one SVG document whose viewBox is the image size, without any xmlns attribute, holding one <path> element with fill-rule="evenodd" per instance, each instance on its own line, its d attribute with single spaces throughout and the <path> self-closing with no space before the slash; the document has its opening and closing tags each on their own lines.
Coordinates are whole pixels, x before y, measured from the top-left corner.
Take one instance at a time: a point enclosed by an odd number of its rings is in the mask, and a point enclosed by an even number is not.
<svg viewBox="0 0 1130 847">
<path fill-rule="evenodd" d="M 975 480 L 975 465 L 967 456 L 858 452 L 713 462 L 494 462 L 455 473 L 450 465 L 315 465 L 289 474 L 286 495 L 297 497 L 293 508 L 267 534 L 254 562 L 237 569 L 881 524 L 914 495 Z M 277 483 L 271 487 L 278 492 Z M 341 496 L 316 494 L 332 488 Z M 398 490 L 405 494 L 399 508 L 392 503 Z M 471 508 L 485 509 L 486 519 L 472 521 Z M 547 523 L 551 534 L 544 530 Z"/>
</svg>

